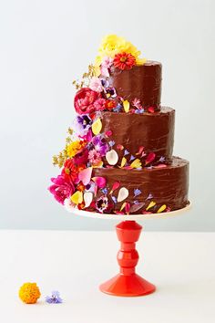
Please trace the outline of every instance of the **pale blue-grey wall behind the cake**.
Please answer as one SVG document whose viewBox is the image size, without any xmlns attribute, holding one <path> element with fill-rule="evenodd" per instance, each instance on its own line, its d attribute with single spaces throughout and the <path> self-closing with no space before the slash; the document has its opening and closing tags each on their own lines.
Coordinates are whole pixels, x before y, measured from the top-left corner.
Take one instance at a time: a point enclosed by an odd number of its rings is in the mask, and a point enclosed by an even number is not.
<svg viewBox="0 0 215 323">
<path fill-rule="evenodd" d="M 113 227 L 67 214 L 46 187 L 74 116 L 72 81 L 101 37 L 116 33 L 162 62 L 162 103 L 177 110 L 175 155 L 190 161 L 192 210 L 146 229 L 215 230 L 214 1 L 7 0 L 0 16 L 0 228 Z"/>
</svg>

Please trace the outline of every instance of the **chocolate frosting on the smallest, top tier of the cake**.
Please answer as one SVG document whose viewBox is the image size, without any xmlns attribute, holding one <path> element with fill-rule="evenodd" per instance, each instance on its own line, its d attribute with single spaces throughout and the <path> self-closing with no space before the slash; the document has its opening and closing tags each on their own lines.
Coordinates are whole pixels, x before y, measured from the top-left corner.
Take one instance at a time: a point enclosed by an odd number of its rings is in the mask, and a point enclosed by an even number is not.
<svg viewBox="0 0 215 323">
<path fill-rule="evenodd" d="M 144 65 L 128 70 L 112 67 L 109 82 L 123 99 L 132 102 L 140 99 L 144 108 L 159 110 L 161 96 L 162 66 L 159 62 L 147 61 Z"/>
</svg>

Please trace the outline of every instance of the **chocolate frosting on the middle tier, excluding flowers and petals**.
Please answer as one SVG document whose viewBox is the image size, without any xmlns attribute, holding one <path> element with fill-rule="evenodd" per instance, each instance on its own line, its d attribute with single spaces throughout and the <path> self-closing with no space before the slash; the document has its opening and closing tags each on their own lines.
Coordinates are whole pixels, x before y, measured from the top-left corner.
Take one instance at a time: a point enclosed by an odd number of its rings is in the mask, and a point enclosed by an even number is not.
<svg viewBox="0 0 215 323">
<path fill-rule="evenodd" d="M 113 149 L 118 151 L 118 165 L 124 154 L 124 150 L 117 150 L 118 144 L 123 145 L 134 156 L 140 146 L 144 147 L 146 156 L 149 152 L 155 152 L 156 158 L 153 163 L 158 162 L 160 157 L 165 157 L 164 162 L 171 161 L 175 126 L 174 109 L 162 107 L 159 112 L 142 114 L 101 112 L 101 121 L 102 132 L 112 131 L 107 141 L 115 141 Z"/>
</svg>

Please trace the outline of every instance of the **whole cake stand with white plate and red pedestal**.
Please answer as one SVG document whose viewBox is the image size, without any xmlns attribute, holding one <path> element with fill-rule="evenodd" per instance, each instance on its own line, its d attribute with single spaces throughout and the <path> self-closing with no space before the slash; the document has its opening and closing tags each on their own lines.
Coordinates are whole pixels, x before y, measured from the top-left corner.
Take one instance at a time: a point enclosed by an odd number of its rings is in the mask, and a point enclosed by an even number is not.
<svg viewBox="0 0 215 323">
<path fill-rule="evenodd" d="M 107 280 L 100 286 L 100 290 L 104 293 L 120 297 L 138 297 L 148 295 L 156 290 L 156 287 L 149 283 L 146 279 L 138 276 L 135 267 L 138 264 L 138 251 L 136 243 L 141 234 L 142 226 L 136 221 L 154 218 L 167 218 L 170 216 L 182 214 L 188 211 L 190 203 L 183 209 L 172 211 L 164 214 L 97 214 L 82 210 L 73 210 L 73 214 L 83 215 L 87 217 L 99 219 L 122 220 L 117 226 L 118 240 L 121 243 L 118 251 L 118 265 L 120 267 L 119 274 Z"/>
</svg>

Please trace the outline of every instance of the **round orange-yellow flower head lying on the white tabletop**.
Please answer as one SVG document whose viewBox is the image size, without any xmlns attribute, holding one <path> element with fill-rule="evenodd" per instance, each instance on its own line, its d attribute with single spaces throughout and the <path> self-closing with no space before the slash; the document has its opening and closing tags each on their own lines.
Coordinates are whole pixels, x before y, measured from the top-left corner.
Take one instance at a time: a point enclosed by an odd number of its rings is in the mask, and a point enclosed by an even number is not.
<svg viewBox="0 0 215 323">
<path fill-rule="evenodd" d="M 40 295 L 41 294 L 36 283 L 25 283 L 19 289 L 19 297 L 26 304 L 35 304 Z"/>
</svg>

